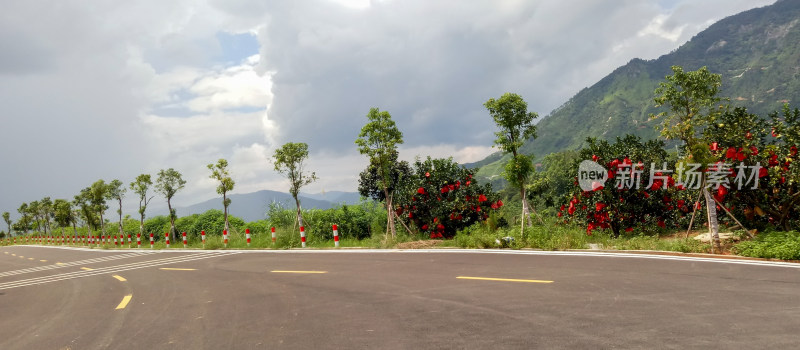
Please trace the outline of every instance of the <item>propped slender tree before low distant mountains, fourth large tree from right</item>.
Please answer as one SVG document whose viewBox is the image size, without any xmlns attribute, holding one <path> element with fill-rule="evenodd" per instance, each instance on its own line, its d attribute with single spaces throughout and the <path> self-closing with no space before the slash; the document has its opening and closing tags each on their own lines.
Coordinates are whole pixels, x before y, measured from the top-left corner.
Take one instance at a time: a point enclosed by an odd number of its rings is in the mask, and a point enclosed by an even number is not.
<svg viewBox="0 0 800 350">
<path fill-rule="evenodd" d="M 303 171 L 303 162 L 308 158 L 308 145 L 303 142 L 288 142 L 276 149 L 272 158 L 275 171 L 289 179 L 289 193 L 297 206 L 297 222 L 299 226 L 303 226 L 303 213 L 297 195 L 301 187 L 317 180 L 314 172 L 308 174 Z"/>
</svg>

